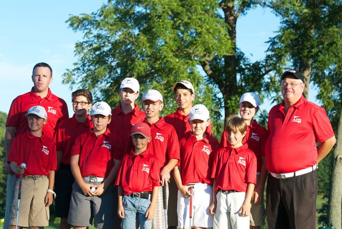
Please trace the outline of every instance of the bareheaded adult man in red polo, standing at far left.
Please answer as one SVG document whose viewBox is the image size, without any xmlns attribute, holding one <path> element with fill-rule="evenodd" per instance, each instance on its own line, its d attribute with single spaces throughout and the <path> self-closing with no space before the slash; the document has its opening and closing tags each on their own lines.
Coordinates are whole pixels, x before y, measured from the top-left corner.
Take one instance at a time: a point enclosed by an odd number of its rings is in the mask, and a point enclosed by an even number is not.
<svg viewBox="0 0 342 229">
<path fill-rule="evenodd" d="M 28 132 L 27 117 L 28 110 L 40 105 L 47 112 L 47 123 L 43 126 L 42 132 L 46 137 L 54 137 L 56 125 L 65 118 L 68 118 L 68 109 L 63 99 L 51 93 L 48 87 L 52 82 L 52 68 L 46 63 L 38 63 L 32 71 L 33 88 L 30 92 L 19 95 L 12 101 L 8 113 L 5 131 L 6 160 L 12 145 L 13 138 L 19 134 Z M 14 195 L 15 176 L 11 172 L 8 163 L 5 163 L 7 176 L 7 196 L 4 228 L 8 228 L 11 211 L 11 203 Z"/>
</svg>

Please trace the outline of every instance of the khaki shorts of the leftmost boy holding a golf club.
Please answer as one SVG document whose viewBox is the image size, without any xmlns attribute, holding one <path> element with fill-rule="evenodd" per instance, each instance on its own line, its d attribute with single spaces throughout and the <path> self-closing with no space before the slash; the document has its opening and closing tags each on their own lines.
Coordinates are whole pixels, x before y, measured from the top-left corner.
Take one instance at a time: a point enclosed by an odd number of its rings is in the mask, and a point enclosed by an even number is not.
<svg viewBox="0 0 342 229">
<path fill-rule="evenodd" d="M 18 226 L 48 226 L 50 212 L 45 207 L 45 195 L 48 189 L 47 176 L 33 179 L 22 179 L 19 205 Z M 16 181 L 10 224 L 16 224 L 18 205 L 19 179 Z"/>
</svg>

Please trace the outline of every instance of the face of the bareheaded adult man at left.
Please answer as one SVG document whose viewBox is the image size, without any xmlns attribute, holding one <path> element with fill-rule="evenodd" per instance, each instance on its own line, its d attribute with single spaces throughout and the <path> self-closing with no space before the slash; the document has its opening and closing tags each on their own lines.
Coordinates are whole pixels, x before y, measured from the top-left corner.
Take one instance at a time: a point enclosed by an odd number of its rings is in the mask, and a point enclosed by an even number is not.
<svg viewBox="0 0 342 229">
<path fill-rule="evenodd" d="M 47 67 L 36 67 L 33 71 L 32 81 L 36 93 L 48 91 L 48 85 L 52 82 L 51 71 Z"/>
</svg>

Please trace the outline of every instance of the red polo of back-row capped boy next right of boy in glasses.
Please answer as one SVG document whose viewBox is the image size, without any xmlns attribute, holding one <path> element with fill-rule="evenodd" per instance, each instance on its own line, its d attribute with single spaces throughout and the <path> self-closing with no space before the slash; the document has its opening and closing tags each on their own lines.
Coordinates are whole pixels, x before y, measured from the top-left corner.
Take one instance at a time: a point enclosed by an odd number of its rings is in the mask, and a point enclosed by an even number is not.
<svg viewBox="0 0 342 229">
<path fill-rule="evenodd" d="M 145 119 L 145 113 L 139 110 L 138 105 L 134 105 L 134 109 L 125 114 L 121 110 L 121 104 L 112 110 L 112 120 L 109 123 L 109 130 L 120 137 L 123 143 L 124 152 L 130 152 L 134 146 L 131 138 L 132 126 Z"/>
</svg>

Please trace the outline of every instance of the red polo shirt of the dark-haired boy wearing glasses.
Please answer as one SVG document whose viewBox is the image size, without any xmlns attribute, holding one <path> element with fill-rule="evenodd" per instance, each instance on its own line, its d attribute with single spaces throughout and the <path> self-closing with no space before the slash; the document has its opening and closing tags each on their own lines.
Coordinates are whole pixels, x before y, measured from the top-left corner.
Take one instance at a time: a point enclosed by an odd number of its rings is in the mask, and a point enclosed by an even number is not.
<svg viewBox="0 0 342 229">
<path fill-rule="evenodd" d="M 90 115 L 87 115 L 85 122 L 79 122 L 75 118 L 75 114 L 69 118 L 64 119 L 57 126 L 55 133 L 56 150 L 62 151 L 61 164 L 70 165 L 70 151 L 74 145 L 75 139 L 88 132 L 92 128 Z"/>
</svg>

